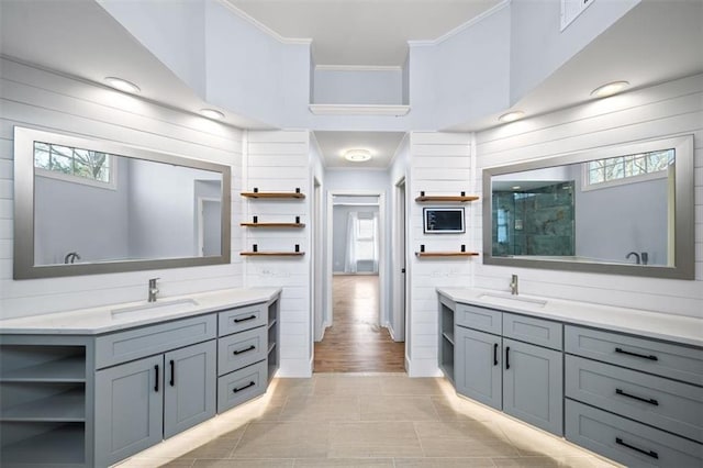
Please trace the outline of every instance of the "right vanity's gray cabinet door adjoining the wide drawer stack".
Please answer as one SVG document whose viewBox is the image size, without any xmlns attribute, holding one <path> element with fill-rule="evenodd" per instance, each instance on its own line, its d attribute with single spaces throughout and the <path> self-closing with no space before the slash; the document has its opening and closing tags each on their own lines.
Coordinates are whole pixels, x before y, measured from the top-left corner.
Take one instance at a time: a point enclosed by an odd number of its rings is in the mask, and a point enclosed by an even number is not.
<svg viewBox="0 0 703 468">
<path fill-rule="evenodd" d="M 553 434 L 563 434 L 563 356 L 503 338 L 503 411 Z"/>
</svg>

